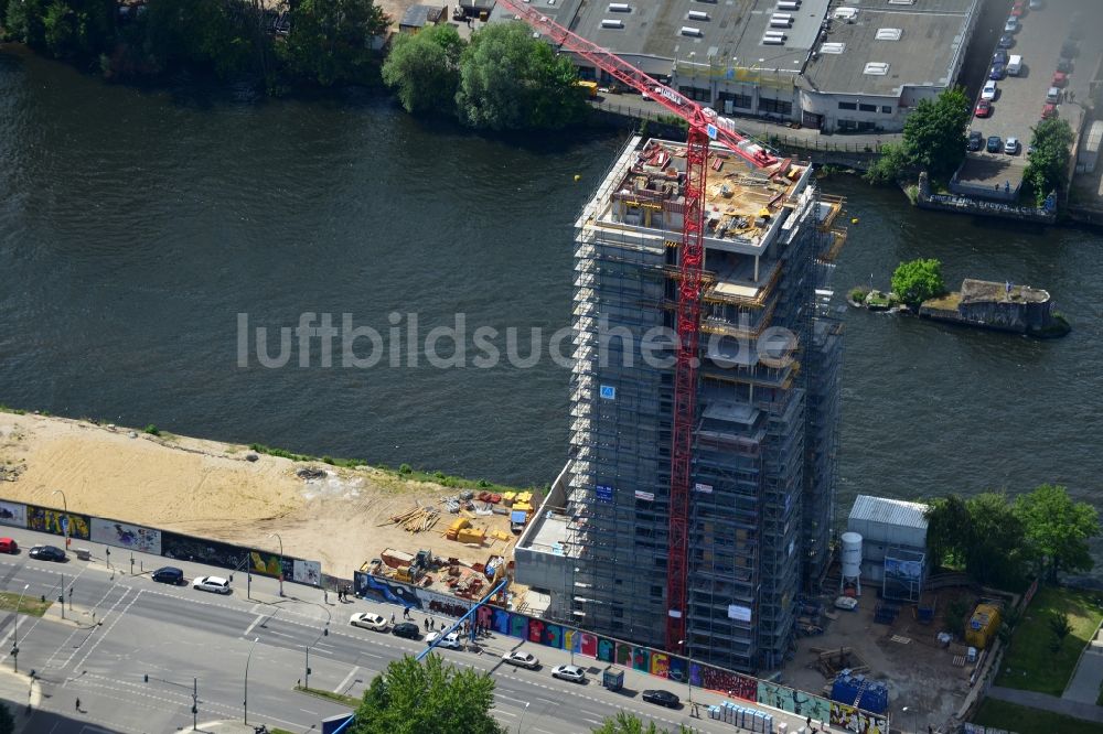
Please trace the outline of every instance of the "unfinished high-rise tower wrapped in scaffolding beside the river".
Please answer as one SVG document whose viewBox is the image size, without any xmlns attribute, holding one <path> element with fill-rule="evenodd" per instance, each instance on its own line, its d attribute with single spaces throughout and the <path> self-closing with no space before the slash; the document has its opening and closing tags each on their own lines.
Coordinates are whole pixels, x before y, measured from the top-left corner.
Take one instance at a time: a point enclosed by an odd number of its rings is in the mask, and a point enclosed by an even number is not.
<svg viewBox="0 0 1103 734">
<path fill-rule="evenodd" d="M 632 139 L 576 223 L 567 464 L 516 549 L 545 615 L 667 647 L 685 145 Z M 779 667 L 834 526 L 842 202 L 811 166 L 707 160 L 685 635 L 694 660 Z"/>
</svg>

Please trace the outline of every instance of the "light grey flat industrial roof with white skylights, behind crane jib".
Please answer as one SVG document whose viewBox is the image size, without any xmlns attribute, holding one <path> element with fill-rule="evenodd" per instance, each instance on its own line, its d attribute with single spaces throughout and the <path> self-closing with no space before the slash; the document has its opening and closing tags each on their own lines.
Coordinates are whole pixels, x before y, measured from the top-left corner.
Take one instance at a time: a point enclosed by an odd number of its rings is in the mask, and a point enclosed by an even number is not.
<svg viewBox="0 0 1103 734">
<path fill-rule="evenodd" d="M 547 0 L 536 0 L 547 2 Z M 815 42 L 829 0 L 803 0 L 784 30 L 785 41 L 767 45 L 763 35 L 775 0 L 599 0 L 583 3 L 571 30 L 620 55 L 709 58 L 732 65 L 800 71 Z M 620 21 L 615 28 L 602 21 Z M 683 29 L 692 29 L 686 32 Z"/>
</svg>

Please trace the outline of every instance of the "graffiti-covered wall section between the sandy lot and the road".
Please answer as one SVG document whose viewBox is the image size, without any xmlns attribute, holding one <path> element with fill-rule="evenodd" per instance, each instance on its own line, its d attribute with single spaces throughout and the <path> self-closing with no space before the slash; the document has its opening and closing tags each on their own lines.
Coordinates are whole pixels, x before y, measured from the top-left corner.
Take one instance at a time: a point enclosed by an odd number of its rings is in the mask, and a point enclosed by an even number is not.
<svg viewBox="0 0 1103 734">
<path fill-rule="evenodd" d="M 25 528 L 55 536 L 66 535 L 72 542 L 99 543 L 109 548 L 161 555 L 171 560 L 245 571 L 292 583 L 318 586 L 322 581 L 320 561 L 281 555 L 270 549 L 235 546 L 208 538 L 195 538 L 111 518 L 66 511 L 56 507 L 25 505 L 0 499 L 0 525 Z M 110 558 L 110 550 L 105 552 Z M 121 560 L 116 560 L 118 565 Z"/>
</svg>

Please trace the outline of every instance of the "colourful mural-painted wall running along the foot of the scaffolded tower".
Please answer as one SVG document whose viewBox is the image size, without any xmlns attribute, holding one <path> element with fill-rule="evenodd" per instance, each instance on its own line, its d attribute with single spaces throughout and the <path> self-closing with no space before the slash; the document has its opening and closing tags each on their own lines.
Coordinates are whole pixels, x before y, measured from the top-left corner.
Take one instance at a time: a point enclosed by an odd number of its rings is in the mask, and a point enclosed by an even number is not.
<svg viewBox="0 0 1103 734">
<path fill-rule="evenodd" d="M 446 596 L 395 579 L 357 571 L 354 574 L 357 596 L 387 604 L 398 604 L 425 614 L 460 617 L 479 600 Z M 888 732 L 888 716 L 832 701 L 806 691 L 774 683 L 746 673 L 689 660 L 663 650 L 625 643 L 612 637 L 556 624 L 522 612 L 484 605 L 475 612 L 476 622 L 492 632 L 545 647 L 572 651 L 598 662 L 621 666 L 656 678 L 689 682 L 696 688 L 749 701 L 791 714 L 831 722 L 832 726 L 856 732 Z"/>
</svg>

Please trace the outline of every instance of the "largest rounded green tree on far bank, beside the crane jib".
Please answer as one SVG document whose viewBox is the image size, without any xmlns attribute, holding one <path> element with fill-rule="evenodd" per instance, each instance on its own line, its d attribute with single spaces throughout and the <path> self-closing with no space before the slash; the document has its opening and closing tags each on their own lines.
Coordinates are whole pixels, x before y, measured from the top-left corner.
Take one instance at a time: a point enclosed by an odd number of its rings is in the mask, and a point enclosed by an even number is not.
<svg viewBox="0 0 1103 734">
<path fill-rule="evenodd" d="M 576 79 L 570 60 L 534 39 L 527 25 L 495 23 L 475 33 L 463 52 L 457 111 L 474 128 L 564 128 L 587 111 Z"/>
</svg>

